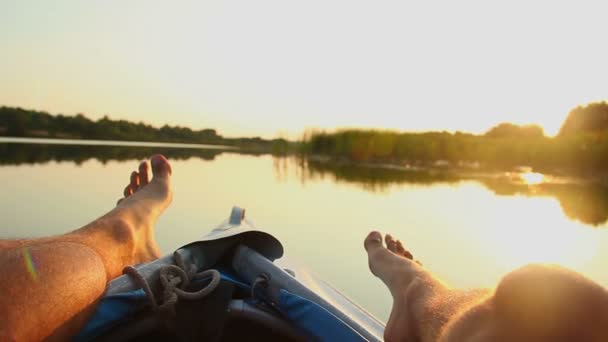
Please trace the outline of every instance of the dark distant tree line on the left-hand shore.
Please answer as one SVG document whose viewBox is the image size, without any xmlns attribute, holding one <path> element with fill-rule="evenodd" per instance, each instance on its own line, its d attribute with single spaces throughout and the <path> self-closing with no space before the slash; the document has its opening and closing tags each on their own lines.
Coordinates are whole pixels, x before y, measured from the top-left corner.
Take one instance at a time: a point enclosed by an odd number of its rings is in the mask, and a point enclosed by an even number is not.
<svg viewBox="0 0 608 342">
<path fill-rule="evenodd" d="M 293 148 L 285 139 L 225 138 L 214 129 L 192 130 L 169 125 L 156 128 L 107 116 L 95 121 L 83 114 L 51 115 L 4 106 L 0 107 L 0 136 L 221 144 L 273 153 L 285 153 Z"/>
</svg>

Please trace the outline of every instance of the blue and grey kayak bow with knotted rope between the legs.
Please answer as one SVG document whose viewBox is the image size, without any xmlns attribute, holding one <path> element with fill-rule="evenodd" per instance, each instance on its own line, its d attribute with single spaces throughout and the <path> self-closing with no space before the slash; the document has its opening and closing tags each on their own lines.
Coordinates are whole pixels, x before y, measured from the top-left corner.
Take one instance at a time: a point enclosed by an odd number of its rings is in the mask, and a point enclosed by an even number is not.
<svg viewBox="0 0 608 342">
<path fill-rule="evenodd" d="M 76 341 L 381 341 L 384 323 L 305 267 L 245 210 L 109 282 Z"/>
</svg>

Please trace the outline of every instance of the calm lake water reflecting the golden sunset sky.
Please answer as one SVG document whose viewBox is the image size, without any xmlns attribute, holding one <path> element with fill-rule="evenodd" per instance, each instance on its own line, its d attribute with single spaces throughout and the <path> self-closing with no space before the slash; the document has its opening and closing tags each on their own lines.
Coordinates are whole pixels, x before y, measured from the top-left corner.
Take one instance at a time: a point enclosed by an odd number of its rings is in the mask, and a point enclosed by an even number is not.
<svg viewBox="0 0 608 342">
<path fill-rule="evenodd" d="M 110 210 L 138 161 L 173 164 L 174 201 L 156 228 L 169 253 L 233 205 L 286 254 L 378 318 L 391 298 L 368 271 L 371 229 L 390 232 L 457 288 L 492 287 L 530 262 L 558 263 L 608 286 L 608 189 L 521 172 L 484 174 L 332 164 L 217 149 L 0 141 L 0 237 L 78 228 Z"/>
</svg>

